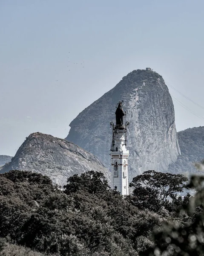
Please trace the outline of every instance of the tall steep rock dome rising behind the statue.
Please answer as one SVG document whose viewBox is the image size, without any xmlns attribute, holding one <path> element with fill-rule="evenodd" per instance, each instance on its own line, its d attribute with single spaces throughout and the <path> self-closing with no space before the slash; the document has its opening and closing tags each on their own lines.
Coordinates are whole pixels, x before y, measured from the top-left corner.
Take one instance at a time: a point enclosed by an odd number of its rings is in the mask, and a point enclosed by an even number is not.
<svg viewBox="0 0 204 256">
<path fill-rule="evenodd" d="M 144 171 L 165 172 L 180 154 L 172 99 L 164 79 L 152 70 L 134 70 L 70 123 L 66 140 L 95 154 L 108 168 L 112 140 L 110 121 L 124 100 L 129 121 L 129 181 Z"/>
</svg>

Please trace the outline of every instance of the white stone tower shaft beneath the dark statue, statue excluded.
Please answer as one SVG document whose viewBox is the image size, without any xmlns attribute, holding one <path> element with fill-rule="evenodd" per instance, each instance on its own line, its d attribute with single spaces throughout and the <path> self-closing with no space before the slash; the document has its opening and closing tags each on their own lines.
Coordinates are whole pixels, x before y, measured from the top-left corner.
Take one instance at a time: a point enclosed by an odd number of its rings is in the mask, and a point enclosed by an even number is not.
<svg viewBox="0 0 204 256">
<path fill-rule="evenodd" d="M 129 195 L 128 183 L 128 157 L 129 150 L 125 145 L 125 129 L 116 130 L 114 151 L 111 151 L 111 188 L 121 192 L 121 195 Z"/>
</svg>

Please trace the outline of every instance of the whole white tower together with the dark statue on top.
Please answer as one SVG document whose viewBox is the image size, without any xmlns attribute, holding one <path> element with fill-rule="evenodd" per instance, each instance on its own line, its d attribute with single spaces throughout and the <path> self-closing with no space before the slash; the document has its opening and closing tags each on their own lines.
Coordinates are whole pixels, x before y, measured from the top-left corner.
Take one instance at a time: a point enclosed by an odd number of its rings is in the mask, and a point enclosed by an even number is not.
<svg viewBox="0 0 204 256">
<path fill-rule="evenodd" d="M 115 111 L 116 125 L 112 126 L 112 143 L 111 143 L 111 188 L 121 192 L 121 195 L 129 195 L 128 183 L 128 157 L 129 150 L 126 150 L 127 128 L 129 122 L 123 124 L 123 116 L 126 116 L 122 106 L 123 101 L 119 101 Z"/>
</svg>

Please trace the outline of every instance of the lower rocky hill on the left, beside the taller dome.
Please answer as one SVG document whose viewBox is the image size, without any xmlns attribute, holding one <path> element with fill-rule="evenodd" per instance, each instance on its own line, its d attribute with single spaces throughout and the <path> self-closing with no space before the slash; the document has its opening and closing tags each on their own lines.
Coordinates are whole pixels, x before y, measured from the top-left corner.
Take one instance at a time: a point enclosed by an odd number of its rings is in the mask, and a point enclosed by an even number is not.
<svg viewBox="0 0 204 256">
<path fill-rule="evenodd" d="M 66 184 L 68 177 L 89 170 L 103 172 L 107 180 L 110 176 L 93 154 L 67 140 L 41 133 L 31 134 L 0 172 L 15 169 L 39 172 L 61 186 Z"/>
</svg>

